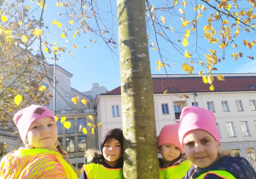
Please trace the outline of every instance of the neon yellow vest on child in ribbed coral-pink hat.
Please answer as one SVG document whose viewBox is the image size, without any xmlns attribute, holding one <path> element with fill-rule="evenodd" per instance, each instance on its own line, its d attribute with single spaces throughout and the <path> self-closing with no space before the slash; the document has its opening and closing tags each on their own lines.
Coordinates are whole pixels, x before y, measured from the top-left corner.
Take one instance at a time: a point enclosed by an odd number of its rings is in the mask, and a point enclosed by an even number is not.
<svg viewBox="0 0 256 179">
<path fill-rule="evenodd" d="M 190 169 L 191 164 L 189 160 L 184 160 L 179 165 L 170 166 L 168 168 L 159 169 L 160 179 L 181 179 L 186 175 L 187 171 Z"/>
</svg>

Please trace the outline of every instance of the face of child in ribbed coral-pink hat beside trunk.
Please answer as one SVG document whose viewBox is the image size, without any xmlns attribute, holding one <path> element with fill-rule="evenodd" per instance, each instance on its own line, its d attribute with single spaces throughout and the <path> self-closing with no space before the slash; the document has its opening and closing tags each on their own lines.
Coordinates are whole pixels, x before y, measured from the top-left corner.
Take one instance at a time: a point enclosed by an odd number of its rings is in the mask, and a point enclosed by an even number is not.
<svg viewBox="0 0 256 179">
<path fill-rule="evenodd" d="M 174 159 L 177 159 L 180 155 L 180 150 L 177 146 L 172 145 L 171 143 L 166 143 L 161 145 L 160 154 L 164 160 L 171 162 Z"/>
</svg>

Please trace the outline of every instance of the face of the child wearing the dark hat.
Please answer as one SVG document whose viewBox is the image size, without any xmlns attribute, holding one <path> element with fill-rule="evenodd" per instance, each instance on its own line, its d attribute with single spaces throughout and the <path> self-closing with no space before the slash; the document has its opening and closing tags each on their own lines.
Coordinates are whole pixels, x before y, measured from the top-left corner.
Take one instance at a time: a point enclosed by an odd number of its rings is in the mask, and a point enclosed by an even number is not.
<svg viewBox="0 0 256 179">
<path fill-rule="evenodd" d="M 122 157 L 122 147 L 118 140 L 110 138 L 105 141 L 102 153 L 107 164 L 117 164 Z M 114 166 L 114 165 L 113 165 Z"/>
</svg>

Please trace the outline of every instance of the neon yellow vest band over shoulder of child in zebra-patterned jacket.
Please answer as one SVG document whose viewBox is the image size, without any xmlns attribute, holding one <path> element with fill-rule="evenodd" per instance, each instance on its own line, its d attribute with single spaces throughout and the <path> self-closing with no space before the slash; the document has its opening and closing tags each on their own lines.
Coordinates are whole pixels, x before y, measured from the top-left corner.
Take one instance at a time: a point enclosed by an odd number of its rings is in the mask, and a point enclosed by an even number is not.
<svg viewBox="0 0 256 179">
<path fill-rule="evenodd" d="M 29 155 L 29 156 L 35 156 L 35 155 L 47 155 L 47 153 L 52 153 L 55 156 L 55 159 L 58 161 L 58 163 L 61 165 L 61 168 L 64 170 L 66 176 L 68 179 L 76 179 L 78 176 L 76 175 L 75 171 L 71 167 L 71 165 L 67 164 L 67 162 L 62 158 L 61 154 L 52 150 L 47 150 L 44 148 L 32 148 L 32 149 L 19 149 L 15 151 L 15 155 Z"/>
</svg>

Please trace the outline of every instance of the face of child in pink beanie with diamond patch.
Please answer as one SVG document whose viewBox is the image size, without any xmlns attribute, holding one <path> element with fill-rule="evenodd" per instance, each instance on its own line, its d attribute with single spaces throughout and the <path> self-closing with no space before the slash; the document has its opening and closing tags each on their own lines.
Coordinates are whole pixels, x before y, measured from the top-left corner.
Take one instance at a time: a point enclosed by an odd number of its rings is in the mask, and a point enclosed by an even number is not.
<svg viewBox="0 0 256 179">
<path fill-rule="evenodd" d="M 57 124 L 49 117 L 39 118 L 32 122 L 26 134 L 26 140 L 29 145 L 49 150 L 55 149 L 57 138 Z"/>
</svg>

